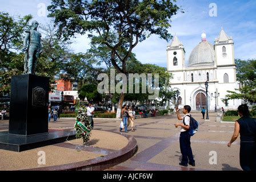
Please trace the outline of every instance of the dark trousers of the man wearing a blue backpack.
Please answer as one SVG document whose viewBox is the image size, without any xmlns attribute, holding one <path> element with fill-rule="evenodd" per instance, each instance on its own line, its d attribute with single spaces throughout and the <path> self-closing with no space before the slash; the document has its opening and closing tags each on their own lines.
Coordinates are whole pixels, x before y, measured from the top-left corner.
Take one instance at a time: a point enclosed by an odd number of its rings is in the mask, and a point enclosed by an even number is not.
<svg viewBox="0 0 256 182">
<path fill-rule="evenodd" d="M 179 135 L 179 147 L 181 148 L 181 163 L 183 164 L 187 164 L 188 162 L 195 162 L 190 144 L 191 143 L 189 133 L 187 131 L 181 132 L 181 135 Z M 189 161 L 187 160 L 187 158 L 189 158 Z"/>
</svg>

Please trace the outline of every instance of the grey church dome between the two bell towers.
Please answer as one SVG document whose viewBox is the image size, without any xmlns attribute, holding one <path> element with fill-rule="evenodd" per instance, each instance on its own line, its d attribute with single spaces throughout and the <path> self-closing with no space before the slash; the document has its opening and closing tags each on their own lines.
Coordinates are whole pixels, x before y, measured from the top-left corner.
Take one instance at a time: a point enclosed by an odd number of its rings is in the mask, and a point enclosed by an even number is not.
<svg viewBox="0 0 256 182">
<path fill-rule="evenodd" d="M 189 56 L 189 67 L 214 64 L 214 47 L 206 40 L 206 34 L 202 34 L 202 42 L 199 43 Z"/>
</svg>

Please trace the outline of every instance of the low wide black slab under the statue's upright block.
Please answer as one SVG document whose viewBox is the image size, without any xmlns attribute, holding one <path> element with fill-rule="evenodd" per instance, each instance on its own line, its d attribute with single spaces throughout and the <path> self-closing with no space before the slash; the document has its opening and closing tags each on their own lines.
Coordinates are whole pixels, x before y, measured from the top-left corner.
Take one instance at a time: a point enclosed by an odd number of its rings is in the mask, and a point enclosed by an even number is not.
<svg viewBox="0 0 256 182">
<path fill-rule="evenodd" d="M 65 142 L 67 138 L 75 139 L 74 130 L 49 131 L 46 134 L 22 136 L 8 134 L 8 131 L 0 132 L 0 149 L 22 152 L 33 148 L 48 146 Z"/>
</svg>

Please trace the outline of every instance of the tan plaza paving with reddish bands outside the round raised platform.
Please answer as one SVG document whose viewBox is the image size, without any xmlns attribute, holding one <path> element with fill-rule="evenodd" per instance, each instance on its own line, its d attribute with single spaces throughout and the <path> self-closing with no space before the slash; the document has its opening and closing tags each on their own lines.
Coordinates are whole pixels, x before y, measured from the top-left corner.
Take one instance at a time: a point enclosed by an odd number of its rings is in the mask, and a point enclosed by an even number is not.
<svg viewBox="0 0 256 182">
<path fill-rule="evenodd" d="M 179 128 L 175 128 L 176 115 L 165 117 L 153 117 L 135 119 L 135 132 L 121 133 L 122 135 L 133 135 L 137 140 L 137 153 L 117 166 L 111 167 L 109 171 L 195 171 L 195 170 L 218 170 L 236 171 L 241 170 L 239 166 L 239 139 L 233 143 L 231 148 L 227 147 L 231 135 L 234 131 L 234 123 L 215 122 L 214 113 L 209 114 L 210 121 L 204 121 L 201 113 L 192 113 L 193 117 L 199 121 L 199 131 L 191 137 L 191 147 L 195 159 L 195 167 L 181 167 L 181 152 L 179 149 Z M 51 130 L 73 129 L 74 119 L 62 118 L 57 123 L 51 122 Z M 119 132 L 119 121 L 113 119 L 95 119 L 94 129 Z M 0 122 L 0 131 L 8 130 L 8 121 Z M 118 136 L 118 135 L 117 135 Z M 91 141 L 95 144 L 98 141 Z M 91 152 L 95 155 L 107 155 L 117 150 L 117 148 L 101 147 L 82 148 L 81 151 Z M 74 149 L 70 143 L 59 143 L 53 147 Z M 217 152 L 217 164 L 210 164 L 211 151 Z"/>
</svg>

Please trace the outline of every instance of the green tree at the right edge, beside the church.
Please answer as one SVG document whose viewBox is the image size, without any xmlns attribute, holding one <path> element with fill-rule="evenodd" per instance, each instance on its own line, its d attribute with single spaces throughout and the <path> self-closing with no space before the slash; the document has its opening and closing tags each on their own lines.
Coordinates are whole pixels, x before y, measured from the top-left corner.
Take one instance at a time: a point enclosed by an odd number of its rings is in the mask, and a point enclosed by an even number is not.
<svg viewBox="0 0 256 182">
<path fill-rule="evenodd" d="M 245 103 L 256 102 L 256 60 L 240 60 L 236 59 L 237 64 L 237 80 L 241 86 L 235 89 L 238 92 L 227 91 L 227 100 L 241 99 Z"/>
</svg>

